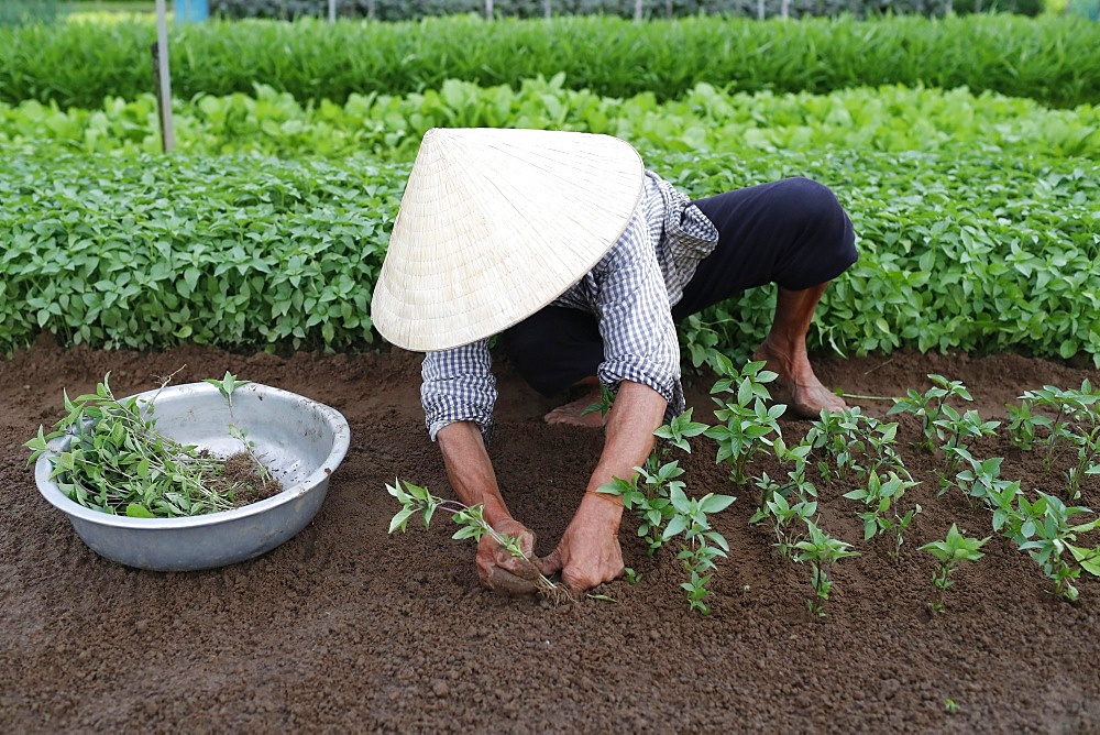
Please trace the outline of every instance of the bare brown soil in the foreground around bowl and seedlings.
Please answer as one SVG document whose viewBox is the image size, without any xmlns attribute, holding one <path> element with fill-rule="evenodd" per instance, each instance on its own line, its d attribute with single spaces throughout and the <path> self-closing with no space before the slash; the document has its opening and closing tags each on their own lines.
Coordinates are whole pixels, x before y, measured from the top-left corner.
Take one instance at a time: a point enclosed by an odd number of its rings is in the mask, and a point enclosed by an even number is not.
<svg viewBox="0 0 1100 735">
<path fill-rule="evenodd" d="M 189 573 L 129 569 L 89 550 L 35 489 L 22 445 L 59 418 L 63 387 L 90 391 L 110 370 L 119 395 L 182 365 L 178 382 L 229 370 L 321 401 L 348 418 L 352 445 L 329 495 L 298 536 L 257 559 Z M 554 406 L 503 361 L 490 448 L 513 513 L 560 538 L 602 447 L 598 429 L 547 426 Z M 901 396 L 926 375 L 963 381 L 983 418 L 1023 391 L 1079 387 L 1094 370 L 1020 355 L 823 356 L 827 385 Z M 695 418 L 713 423 L 707 376 L 690 382 Z M 473 546 L 449 524 L 388 535 L 402 478 L 450 495 L 424 429 L 419 358 L 237 355 L 189 347 L 143 354 L 64 351 L 50 340 L 0 362 L 0 731 L 144 732 L 1100 732 L 1100 580 L 1080 601 L 1052 595 L 1042 569 L 1009 541 L 956 575 L 932 615 L 934 560 L 917 547 L 953 522 L 991 533 L 988 512 L 936 497 L 936 458 L 899 446 L 922 481 L 903 502 L 923 513 L 901 556 L 864 542 L 858 509 L 823 486 L 822 524 L 861 552 L 843 560 L 824 619 L 811 616 L 806 564 L 780 559 L 751 526 L 757 491 L 735 487 L 708 440 L 681 462 L 692 494 L 739 498 L 716 519 L 730 542 L 710 616 L 688 611 L 671 550 L 656 557 L 624 519 L 626 563 L 641 574 L 596 590 L 614 600 L 561 606 L 482 589 Z M 889 401 L 853 399 L 884 417 Z M 805 421 L 783 421 L 788 441 Z M 1007 439 L 1002 474 L 1056 492 L 1057 472 Z M 781 470 L 755 463 L 752 474 Z M 1100 479 L 1082 505 L 1100 506 Z M 1087 539 L 1100 542 L 1096 534 Z M 955 706 L 952 706 L 954 703 Z M 954 713 L 949 710 L 956 710 Z"/>
</svg>

